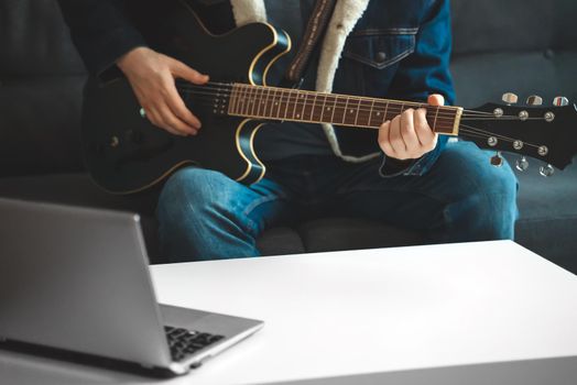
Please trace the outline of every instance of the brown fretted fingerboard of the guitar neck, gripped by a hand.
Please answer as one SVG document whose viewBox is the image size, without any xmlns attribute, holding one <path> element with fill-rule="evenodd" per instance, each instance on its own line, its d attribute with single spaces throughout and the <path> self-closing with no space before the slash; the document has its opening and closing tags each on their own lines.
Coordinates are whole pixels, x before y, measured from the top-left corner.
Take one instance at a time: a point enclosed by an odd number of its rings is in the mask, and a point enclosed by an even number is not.
<svg viewBox="0 0 577 385">
<path fill-rule="evenodd" d="M 410 108 L 425 108 L 427 121 L 435 132 L 458 134 L 462 114 L 459 107 L 244 84 L 233 84 L 226 102 L 227 114 L 235 117 L 364 129 L 378 129 Z"/>
</svg>

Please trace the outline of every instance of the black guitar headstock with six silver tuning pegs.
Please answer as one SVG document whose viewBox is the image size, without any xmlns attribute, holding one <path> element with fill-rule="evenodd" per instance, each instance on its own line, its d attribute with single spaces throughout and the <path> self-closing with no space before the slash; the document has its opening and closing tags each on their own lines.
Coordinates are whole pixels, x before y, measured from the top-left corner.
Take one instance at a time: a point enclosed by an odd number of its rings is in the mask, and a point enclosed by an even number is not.
<svg viewBox="0 0 577 385">
<path fill-rule="evenodd" d="M 524 106 L 514 94 L 503 95 L 503 103 L 487 103 L 465 110 L 458 135 L 481 148 L 505 151 L 523 156 L 518 168 L 524 170 L 530 156 L 559 169 L 577 154 L 577 106 L 557 97 L 551 107 L 531 96 Z M 552 167 L 542 174 L 553 174 Z"/>
</svg>

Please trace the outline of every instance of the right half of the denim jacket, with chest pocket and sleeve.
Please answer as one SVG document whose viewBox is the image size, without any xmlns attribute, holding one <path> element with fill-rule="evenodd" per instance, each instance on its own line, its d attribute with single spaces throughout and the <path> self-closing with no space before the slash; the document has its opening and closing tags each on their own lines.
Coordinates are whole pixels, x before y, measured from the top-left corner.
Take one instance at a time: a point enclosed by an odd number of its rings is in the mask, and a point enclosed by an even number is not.
<svg viewBox="0 0 577 385">
<path fill-rule="evenodd" d="M 440 94 L 451 105 L 450 48 L 448 0 L 373 0 L 347 38 L 334 90 L 411 101 L 426 101 L 428 95 Z M 336 131 L 345 154 L 366 154 L 370 145 L 373 152 L 379 151 L 374 133 Z M 382 167 L 381 174 L 422 175 L 435 163 L 447 139 L 439 135 L 436 148 L 409 167 Z M 387 161 L 383 155 L 383 165 Z"/>
</svg>

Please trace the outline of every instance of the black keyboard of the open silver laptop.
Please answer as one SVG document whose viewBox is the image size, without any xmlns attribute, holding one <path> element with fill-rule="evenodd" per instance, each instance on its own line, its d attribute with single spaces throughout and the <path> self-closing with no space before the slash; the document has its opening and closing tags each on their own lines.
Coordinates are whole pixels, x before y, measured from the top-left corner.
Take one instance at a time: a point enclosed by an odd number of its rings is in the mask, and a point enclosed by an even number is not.
<svg viewBox="0 0 577 385">
<path fill-rule="evenodd" d="M 202 333 L 167 326 L 164 327 L 164 331 L 166 332 L 173 361 L 182 361 L 225 338 L 224 336 Z"/>
</svg>

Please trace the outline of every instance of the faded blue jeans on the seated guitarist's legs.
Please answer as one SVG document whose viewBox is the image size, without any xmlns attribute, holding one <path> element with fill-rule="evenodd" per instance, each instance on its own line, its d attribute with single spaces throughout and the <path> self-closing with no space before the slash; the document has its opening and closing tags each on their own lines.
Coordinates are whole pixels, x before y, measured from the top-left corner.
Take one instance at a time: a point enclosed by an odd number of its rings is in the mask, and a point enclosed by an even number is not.
<svg viewBox="0 0 577 385">
<path fill-rule="evenodd" d="M 252 186 L 183 168 L 159 199 L 162 252 L 174 262 L 258 256 L 264 229 L 323 216 L 374 219 L 422 231 L 429 242 L 513 239 L 516 179 L 507 163 L 491 166 L 491 155 L 449 143 L 425 175 L 390 178 L 379 175 L 380 160 L 302 156 L 268 165 Z"/>
</svg>

